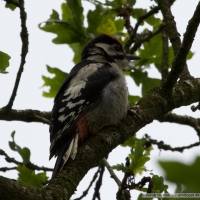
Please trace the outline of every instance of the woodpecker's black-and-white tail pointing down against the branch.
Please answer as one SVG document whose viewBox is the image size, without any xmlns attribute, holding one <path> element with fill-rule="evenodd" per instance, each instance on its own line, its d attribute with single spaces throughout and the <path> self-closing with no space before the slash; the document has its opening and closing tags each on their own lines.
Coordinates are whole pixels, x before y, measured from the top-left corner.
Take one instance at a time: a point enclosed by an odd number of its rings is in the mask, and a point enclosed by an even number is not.
<svg viewBox="0 0 200 200">
<path fill-rule="evenodd" d="M 68 139 L 66 143 L 60 145 L 60 147 L 52 178 L 62 170 L 69 157 L 73 160 L 75 159 L 78 149 L 78 133 L 72 135 L 72 137 Z"/>
</svg>

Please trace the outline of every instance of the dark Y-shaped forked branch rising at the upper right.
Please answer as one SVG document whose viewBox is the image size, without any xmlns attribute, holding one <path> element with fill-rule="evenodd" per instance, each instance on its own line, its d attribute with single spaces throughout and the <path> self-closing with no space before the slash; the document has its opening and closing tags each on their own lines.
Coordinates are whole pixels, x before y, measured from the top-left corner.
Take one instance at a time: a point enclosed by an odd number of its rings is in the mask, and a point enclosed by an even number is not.
<svg viewBox="0 0 200 200">
<path fill-rule="evenodd" d="M 161 7 L 164 20 L 167 25 L 168 35 L 175 52 L 175 60 L 172 65 L 172 69 L 167 76 L 167 79 L 162 84 L 162 89 L 165 91 L 172 91 L 174 84 L 177 82 L 179 75 L 183 72 L 186 65 L 186 57 L 192 46 L 197 28 L 200 22 L 200 2 L 198 3 L 196 10 L 189 20 L 186 33 L 183 38 L 182 45 L 180 43 L 179 33 L 176 30 L 176 24 L 174 17 L 168 7 L 167 0 L 159 0 L 159 6 Z M 186 72 L 184 72 L 185 74 Z"/>
</svg>

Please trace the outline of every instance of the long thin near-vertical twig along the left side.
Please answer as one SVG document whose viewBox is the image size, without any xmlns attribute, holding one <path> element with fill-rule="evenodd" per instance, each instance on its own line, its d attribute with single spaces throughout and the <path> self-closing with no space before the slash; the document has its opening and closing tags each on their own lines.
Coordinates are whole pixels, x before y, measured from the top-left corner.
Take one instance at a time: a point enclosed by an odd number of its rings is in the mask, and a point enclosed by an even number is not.
<svg viewBox="0 0 200 200">
<path fill-rule="evenodd" d="M 19 86 L 19 82 L 20 82 L 20 79 L 21 79 L 21 75 L 22 75 L 22 72 L 23 72 L 23 69 L 24 69 L 24 64 L 26 63 L 26 55 L 28 53 L 28 30 L 27 30 L 27 27 L 26 27 L 26 11 L 25 11 L 25 8 L 24 8 L 24 0 L 19 0 L 19 3 L 14 3 L 13 1 L 6 1 L 6 2 L 9 2 L 9 3 L 12 3 L 14 5 L 17 5 L 20 9 L 20 18 L 21 18 L 21 40 L 22 40 L 22 50 L 21 50 L 21 63 L 20 63 L 20 66 L 19 66 L 19 70 L 17 72 L 17 77 L 16 77 L 16 80 L 15 80 L 15 84 L 14 84 L 14 88 L 13 88 L 13 91 L 12 91 L 12 94 L 11 94 L 11 97 L 10 97 L 10 100 L 8 102 L 8 104 L 5 106 L 6 109 L 11 109 L 12 106 L 13 106 L 13 102 L 15 100 L 15 97 L 16 97 L 16 94 L 17 94 L 17 89 L 18 89 L 18 86 Z M 19 4 L 19 5 L 18 5 Z"/>
</svg>

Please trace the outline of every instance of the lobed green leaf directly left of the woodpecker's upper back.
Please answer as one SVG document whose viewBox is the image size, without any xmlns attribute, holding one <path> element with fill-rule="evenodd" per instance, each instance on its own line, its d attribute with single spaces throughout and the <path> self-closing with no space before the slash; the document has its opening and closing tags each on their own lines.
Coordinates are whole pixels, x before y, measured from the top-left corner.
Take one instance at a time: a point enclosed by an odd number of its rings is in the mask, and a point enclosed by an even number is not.
<svg viewBox="0 0 200 200">
<path fill-rule="evenodd" d="M 50 87 L 48 92 L 43 92 L 43 96 L 52 98 L 56 96 L 63 80 L 66 78 L 68 74 L 59 70 L 58 68 L 52 68 L 48 65 L 47 65 L 47 70 L 49 73 L 54 74 L 54 77 L 49 78 L 46 76 L 42 76 L 42 79 L 44 80 L 43 86 Z"/>
</svg>

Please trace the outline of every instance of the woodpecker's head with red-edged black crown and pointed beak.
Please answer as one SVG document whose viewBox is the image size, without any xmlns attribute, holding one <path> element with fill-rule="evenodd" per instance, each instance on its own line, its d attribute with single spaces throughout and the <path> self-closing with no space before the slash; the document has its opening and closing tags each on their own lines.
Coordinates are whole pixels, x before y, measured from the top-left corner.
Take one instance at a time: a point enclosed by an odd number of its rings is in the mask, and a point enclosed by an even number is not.
<svg viewBox="0 0 200 200">
<path fill-rule="evenodd" d="M 82 51 L 82 60 L 116 63 L 124 69 L 130 60 L 140 59 L 138 56 L 126 53 L 122 44 L 114 37 L 101 34 L 90 40 Z"/>
</svg>

